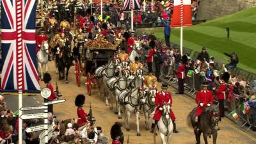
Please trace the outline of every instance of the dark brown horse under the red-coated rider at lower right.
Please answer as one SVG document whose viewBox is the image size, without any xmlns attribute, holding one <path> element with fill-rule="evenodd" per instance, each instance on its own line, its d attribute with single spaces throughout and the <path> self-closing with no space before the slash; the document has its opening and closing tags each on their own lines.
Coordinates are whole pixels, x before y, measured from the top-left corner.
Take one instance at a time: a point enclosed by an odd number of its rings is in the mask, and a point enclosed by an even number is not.
<svg viewBox="0 0 256 144">
<path fill-rule="evenodd" d="M 195 116 L 196 116 L 196 108 L 193 109 L 188 115 L 188 123 L 195 127 Z M 198 131 L 194 130 L 196 136 L 196 144 L 200 143 L 200 136 L 204 134 L 205 144 L 208 144 L 207 136 L 211 138 L 213 137 L 213 144 L 216 144 L 217 140 L 217 131 L 218 131 L 218 122 L 219 115 L 216 109 L 211 106 L 206 108 L 202 115 L 200 115 L 200 120 L 198 122 Z"/>
</svg>

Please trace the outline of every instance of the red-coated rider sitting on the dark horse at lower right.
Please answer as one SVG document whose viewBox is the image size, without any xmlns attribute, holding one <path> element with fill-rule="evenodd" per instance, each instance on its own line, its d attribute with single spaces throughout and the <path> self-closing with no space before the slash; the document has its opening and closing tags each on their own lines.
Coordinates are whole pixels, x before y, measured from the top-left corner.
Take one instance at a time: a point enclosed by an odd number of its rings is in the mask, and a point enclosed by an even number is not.
<svg viewBox="0 0 256 144">
<path fill-rule="evenodd" d="M 204 81 L 202 84 L 203 90 L 200 90 L 196 94 L 196 104 L 198 104 L 198 107 L 196 108 L 196 117 L 195 117 L 195 131 L 198 131 L 198 117 L 202 114 L 205 108 L 209 107 L 212 105 L 213 101 L 213 96 L 212 92 L 207 90 L 208 88 L 208 83 L 207 81 Z"/>
</svg>

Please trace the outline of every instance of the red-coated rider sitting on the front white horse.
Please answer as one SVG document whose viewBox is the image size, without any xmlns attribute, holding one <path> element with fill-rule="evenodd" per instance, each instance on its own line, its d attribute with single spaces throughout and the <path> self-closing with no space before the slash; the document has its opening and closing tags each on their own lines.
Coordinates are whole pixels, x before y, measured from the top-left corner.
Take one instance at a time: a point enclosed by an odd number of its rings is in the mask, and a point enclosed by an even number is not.
<svg viewBox="0 0 256 144">
<path fill-rule="evenodd" d="M 163 102 L 169 102 L 170 100 L 170 107 L 172 107 L 172 95 L 170 92 L 167 92 L 168 89 L 168 85 L 167 84 L 162 84 L 161 86 L 162 91 L 156 93 L 156 111 L 155 114 L 153 116 L 153 119 L 155 120 L 155 124 L 152 123 L 151 125 L 151 133 L 154 132 L 154 129 L 157 125 L 157 122 L 160 120 L 161 115 L 162 115 L 162 111 L 163 111 Z M 173 133 L 178 133 L 179 131 L 177 131 L 176 129 L 176 124 L 175 124 L 175 115 L 172 111 L 172 109 L 170 109 L 170 117 L 172 118 L 172 122 L 173 122 Z"/>
</svg>

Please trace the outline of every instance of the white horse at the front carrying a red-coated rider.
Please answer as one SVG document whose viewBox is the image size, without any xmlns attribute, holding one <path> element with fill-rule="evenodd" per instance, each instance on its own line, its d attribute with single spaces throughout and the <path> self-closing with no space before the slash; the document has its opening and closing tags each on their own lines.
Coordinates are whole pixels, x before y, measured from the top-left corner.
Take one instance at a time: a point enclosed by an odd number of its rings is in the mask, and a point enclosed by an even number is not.
<svg viewBox="0 0 256 144">
<path fill-rule="evenodd" d="M 163 104 L 163 114 L 157 122 L 157 129 L 154 131 L 154 143 L 156 144 L 156 131 L 160 133 L 162 144 L 170 143 L 170 138 L 173 133 L 172 119 L 170 118 L 170 100 Z"/>
</svg>

